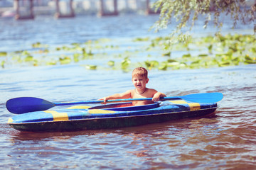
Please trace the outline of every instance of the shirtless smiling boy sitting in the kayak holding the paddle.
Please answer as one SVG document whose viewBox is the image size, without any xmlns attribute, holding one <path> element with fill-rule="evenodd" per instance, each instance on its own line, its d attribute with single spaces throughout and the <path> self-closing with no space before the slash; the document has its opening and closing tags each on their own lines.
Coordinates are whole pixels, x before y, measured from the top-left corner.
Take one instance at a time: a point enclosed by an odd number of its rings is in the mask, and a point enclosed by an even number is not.
<svg viewBox="0 0 256 170">
<path fill-rule="evenodd" d="M 133 106 L 140 106 L 154 103 L 159 101 L 161 97 L 166 97 L 165 94 L 156 91 L 155 89 L 146 88 L 146 84 L 149 82 L 148 72 L 143 67 L 137 67 L 132 72 L 132 84 L 135 89 L 126 91 L 122 94 L 113 94 L 104 98 L 100 98 L 99 101 L 106 101 L 110 99 L 124 99 L 124 98 L 152 98 L 152 101 L 133 101 Z"/>
</svg>

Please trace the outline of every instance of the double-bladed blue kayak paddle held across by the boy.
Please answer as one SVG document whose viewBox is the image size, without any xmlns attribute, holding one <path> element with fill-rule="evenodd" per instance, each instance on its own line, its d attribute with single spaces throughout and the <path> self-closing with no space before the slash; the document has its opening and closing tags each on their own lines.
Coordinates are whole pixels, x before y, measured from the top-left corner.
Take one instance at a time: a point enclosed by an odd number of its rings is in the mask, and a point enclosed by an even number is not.
<svg viewBox="0 0 256 170">
<path fill-rule="evenodd" d="M 220 93 L 206 93 L 206 94 L 188 94 L 185 96 L 176 97 L 164 97 L 161 101 L 166 100 L 178 100 L 183 99 L 186 101 L 192 101 L 196 103 L 215 103 L 223 98 L 223 94 Z M 127 98 L 127 99 L 116 99 L 108 100 L 108 103 L 118 103 L 127 101 L 151 101 L 152 98 Z M 102 101 L 77 101 L 77 102 L 61 102 L 51 103 L 50 101 L 43 100 L 41 98 L 34 97 L 20 97 L 11 98 L 6 102 L 6 108 L 11 113 L 22 114 L 33 111 L 46 111 L 54 106 L 65 106 L 65 105 L 77 105 L 77 104 L 90 104 L 90 103 L 102 103 Z"/>
</svg>

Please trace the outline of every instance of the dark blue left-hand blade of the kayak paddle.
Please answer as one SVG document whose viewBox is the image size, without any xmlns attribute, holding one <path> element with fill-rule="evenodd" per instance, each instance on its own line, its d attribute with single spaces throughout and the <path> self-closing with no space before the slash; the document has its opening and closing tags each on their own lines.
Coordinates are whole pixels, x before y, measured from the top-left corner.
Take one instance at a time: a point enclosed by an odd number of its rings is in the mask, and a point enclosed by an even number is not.
<svg viewBox="0 0 256 170">
<path fill-rule="evenodd" d="M 11 98 L 9 101 L 6 101 L 7 110 L 15 114 L 33 111 L 46 111 L 48 108 L 52 108 L 53 106 L 55 106 L 55 104 L 50 101 L 33 97 Z"/>
</svg>

